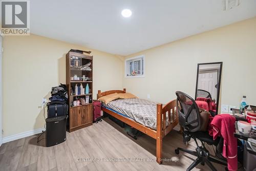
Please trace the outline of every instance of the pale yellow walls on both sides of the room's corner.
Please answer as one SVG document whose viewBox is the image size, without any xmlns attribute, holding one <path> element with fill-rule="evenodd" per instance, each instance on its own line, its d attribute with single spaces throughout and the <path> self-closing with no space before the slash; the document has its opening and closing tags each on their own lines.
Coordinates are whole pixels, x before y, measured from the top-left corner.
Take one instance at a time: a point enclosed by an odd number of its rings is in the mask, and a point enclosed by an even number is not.
<svg viewBox="0 0 256 171">
<path fill-rule="evenodd" d="M 6 36 L 3 46 L 6 137 L 44 126 L 41 99 L 66 82 L 65 54 L 90 49 L 37 35 Z M 177 90 L 194 97 L 197 63 L 223 61 L 221 103 L 238 106 L 242 95 L 256 103 L 256 18 L 126 56 L 145 55 L 144 78 L 124 78 L 122 56 L 91 51 L 94 98 L 97 90 L 122 88 L 162 103 L 175 99 Z"/>
</svg>

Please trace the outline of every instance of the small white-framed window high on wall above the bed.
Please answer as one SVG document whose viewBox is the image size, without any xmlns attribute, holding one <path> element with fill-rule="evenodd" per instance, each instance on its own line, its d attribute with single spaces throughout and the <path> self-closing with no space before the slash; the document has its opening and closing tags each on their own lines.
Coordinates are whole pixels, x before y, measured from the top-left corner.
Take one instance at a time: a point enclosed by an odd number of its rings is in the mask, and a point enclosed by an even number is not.
<svg viewBox="0 0 256 171">
<path fill-rule="evenodd" d="M 125 77 L 144 77 L 144 55 L 127 58 L 124 62 Z"/>
</svg>

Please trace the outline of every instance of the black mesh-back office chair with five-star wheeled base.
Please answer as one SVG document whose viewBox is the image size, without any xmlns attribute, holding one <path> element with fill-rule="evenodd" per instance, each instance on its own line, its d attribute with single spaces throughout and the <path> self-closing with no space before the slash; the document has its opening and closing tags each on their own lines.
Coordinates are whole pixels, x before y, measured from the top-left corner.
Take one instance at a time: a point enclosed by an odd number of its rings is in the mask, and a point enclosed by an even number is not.
<svg viewBox="0 0 256 171">
<path fill-rule="evenodd" d="M 183 132 L 183 142 L 186 143 L 193 138 L 197 144 L 196 151 L 191 151 L 189 149 L 177 148 L 175 153 L 179 154 L 179 151 L 197 156 L 198 158 L 187 168 L 187 171 L 193 169 L 196 165 L 205 163 L 211 168 L 211 170 L 217 170 L 211 162 L 227 165 L 226 163 L 210 157 L 208 150 L 205 148 L 204 143 L 209 145 L 215 145 L 217 148 L 220 147 L 219 142 L 221 138 L 213 139 L 208 132 L 199 131 L 201 129 L 202 120 L 200 116 L 200 111 L 197 103 L 193 98 L 188 96 L 183 92 L 176 92 L 177 95 L 177 109 L 179 113 L 179 123 L 184 129 Z M 198 145 L 197 139 L 201 141 L 202 146 Z M 219 146 L 218 146 L 219 145 Z M 223 146 L 223 142 L 221 147 Z"/>
</svg>

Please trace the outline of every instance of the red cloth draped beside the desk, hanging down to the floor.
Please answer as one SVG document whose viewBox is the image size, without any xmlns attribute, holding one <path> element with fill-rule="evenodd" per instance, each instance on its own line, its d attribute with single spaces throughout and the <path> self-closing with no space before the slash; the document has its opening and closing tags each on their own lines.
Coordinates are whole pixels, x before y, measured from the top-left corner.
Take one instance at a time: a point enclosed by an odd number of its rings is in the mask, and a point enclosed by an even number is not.
<svg viewBox="0 0 256 171">
<path fill-rule="evenodd" d="M 229 114 L 216 115 L 212 121 L 211 126 L 209 126 L 209 135 L 216 139 L 218 136 L 222 136 L 223 151 L 222 156 L 227 159 L 228 170 L 238 169 L 238 144 L 237 138 L 234 137 L 234 132 L 236 128 L 234 123 L 236 118 Z"/>
</svg>

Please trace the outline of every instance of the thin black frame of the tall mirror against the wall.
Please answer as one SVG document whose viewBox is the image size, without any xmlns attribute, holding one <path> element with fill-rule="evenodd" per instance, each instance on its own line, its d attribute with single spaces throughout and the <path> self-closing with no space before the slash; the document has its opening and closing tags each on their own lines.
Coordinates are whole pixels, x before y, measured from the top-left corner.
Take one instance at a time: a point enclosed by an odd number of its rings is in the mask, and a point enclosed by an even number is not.
<svg viewBox="0 0 256 171">
<path fill-rule="evenodd" d="M 222 75 L 222 63 L 223 62 L 209 62 L 209 63 L 198 63 L 197 64 L 197 82 L 196 82 L 196 95 L 195 95 L 195 100 L 197 99 L 197 87 L 198 87 L 198 74 L 199 74 L 199 66 L 200 65 L 211 65 L 211 64 L 220 64 L 220 76 L 219 76 L 219 86 L 217 90 L 217 104 L 216 104 L 216 115 L 218 115 L 218 110 L 219 110 L 219 100 L 220 100 L 220 90 L 221 90 L 221 75 Z"/>
</svg>

